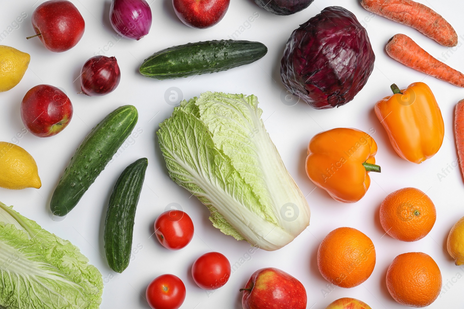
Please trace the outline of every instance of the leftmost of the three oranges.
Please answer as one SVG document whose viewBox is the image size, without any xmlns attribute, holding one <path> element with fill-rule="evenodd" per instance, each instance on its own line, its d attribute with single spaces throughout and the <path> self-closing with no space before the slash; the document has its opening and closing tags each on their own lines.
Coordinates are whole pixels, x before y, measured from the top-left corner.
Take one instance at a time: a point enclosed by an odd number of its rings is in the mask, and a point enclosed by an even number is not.
<svg viewBox="0 0 464 309">
<path fill-rule="evenodd" d="M 327 281 L 352 288 L 366 281 L 374 271 L 374 244 L 355 228 L 336 228 L 319 245 L 317 266 Z"/>
</svg>

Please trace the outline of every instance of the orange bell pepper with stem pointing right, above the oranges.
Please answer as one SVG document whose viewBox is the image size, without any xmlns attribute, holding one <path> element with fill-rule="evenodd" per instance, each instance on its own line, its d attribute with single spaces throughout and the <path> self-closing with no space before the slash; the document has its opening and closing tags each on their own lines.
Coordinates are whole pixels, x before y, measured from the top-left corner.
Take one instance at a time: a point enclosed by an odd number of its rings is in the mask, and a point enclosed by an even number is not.
<svg viewBox="0 0 464 309">
<path fill-rule="evenodd" d="M 366 194 L 369 172 L 380 172 L 375 165 L 377 144 L 357 129 L 336 128 L 316 134 L 308 145 L 306 174 L 336 201 L 354 203 Z"/>
</svg>

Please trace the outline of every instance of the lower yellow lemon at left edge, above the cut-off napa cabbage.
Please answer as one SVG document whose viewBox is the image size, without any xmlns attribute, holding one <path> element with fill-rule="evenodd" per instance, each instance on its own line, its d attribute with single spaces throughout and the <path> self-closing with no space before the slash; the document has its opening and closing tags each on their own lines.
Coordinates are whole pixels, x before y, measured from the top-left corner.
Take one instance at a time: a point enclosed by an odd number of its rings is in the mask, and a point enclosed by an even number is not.
<svg viewBox="0 0 464 309">
<path fill-rule="evenodd" d="M 42 186 L 34 158 L 23 148 L 0 142 L 0 187 L 25 189 Z"/>
</svg>

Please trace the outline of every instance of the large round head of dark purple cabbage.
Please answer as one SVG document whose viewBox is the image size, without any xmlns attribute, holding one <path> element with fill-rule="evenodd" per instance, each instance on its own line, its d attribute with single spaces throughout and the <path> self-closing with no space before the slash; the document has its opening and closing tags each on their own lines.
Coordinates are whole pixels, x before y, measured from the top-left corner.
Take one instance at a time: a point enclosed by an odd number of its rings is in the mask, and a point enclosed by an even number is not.
<svg viewBox="0 0 464 309">
<path fill-rule="evenodd" d="M 364 87 L 374 60 L 366 29 L 354 14 L 329 6 L 292 33 L 280 76 L 285 87 L 310 106 L 339 107 Z"/>
</svg>

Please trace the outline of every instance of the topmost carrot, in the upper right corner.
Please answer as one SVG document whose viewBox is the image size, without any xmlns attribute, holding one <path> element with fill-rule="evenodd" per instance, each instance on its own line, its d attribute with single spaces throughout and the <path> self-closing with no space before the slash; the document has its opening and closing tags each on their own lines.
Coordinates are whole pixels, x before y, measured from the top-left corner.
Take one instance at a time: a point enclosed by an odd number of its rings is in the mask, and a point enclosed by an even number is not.
<svg viewBox="0 0 464 309">
<path fill-rule="evenodd" d="M 430 7 L 412 0 L 361 0 L 369 12 L 410 26 L 438 43 L 454 47 L 458 34 L 440 14 Z"/>
</svg>

